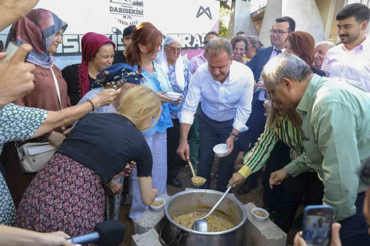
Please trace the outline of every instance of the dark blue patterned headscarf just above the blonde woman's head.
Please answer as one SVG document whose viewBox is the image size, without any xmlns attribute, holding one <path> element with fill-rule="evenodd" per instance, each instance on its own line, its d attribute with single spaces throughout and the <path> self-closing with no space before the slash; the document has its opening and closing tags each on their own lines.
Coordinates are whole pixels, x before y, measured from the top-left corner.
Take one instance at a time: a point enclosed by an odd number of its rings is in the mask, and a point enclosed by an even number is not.
<svg viewBox="0 0 370 246">
<path fill-rule="evenodd" d="M 118 63 L 100 71 L 96 76 L 94 89 L 102 86 L 113 86 L 113 88 L 116 88 L 117 82 L 122 81 L 140 85 L 142 77 L 143 75 L 135 68 L 127 64 Z"/>
</svg>

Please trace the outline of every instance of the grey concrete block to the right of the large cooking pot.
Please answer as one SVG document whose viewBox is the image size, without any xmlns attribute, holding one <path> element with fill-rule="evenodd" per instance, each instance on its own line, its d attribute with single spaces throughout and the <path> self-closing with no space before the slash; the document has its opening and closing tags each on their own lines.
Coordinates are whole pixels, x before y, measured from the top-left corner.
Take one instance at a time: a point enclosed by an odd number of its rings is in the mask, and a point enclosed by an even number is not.
<svg viewBox="0 0 370 246">
<path fill-rule="evenodd" d="M 252 215 L 253 203 L 244 205 L 247 209 L 247 222 L 244 225 L 244 246 L 285 246 L 287 235 L 267 218 L 257 221 Z"/>
</svg>

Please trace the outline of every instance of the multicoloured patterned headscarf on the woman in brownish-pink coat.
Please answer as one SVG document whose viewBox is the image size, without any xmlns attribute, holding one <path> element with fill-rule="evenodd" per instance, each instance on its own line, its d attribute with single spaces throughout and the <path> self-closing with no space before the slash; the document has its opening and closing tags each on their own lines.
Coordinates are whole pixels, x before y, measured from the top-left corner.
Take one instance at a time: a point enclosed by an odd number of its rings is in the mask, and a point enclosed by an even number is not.
<svg viewBox="0 0 370 246">
<path fill-rule="evenodd" d="M 52 64 L 49 47 L 59 31 L 64 33 L 67 26 L 68 24 L 54 13 L 45 9 L 34 9 L 11 26 L 5 46 L 8 47 L 10 41 L 19 45 L 31 44 L 33 49 L 27 61 L 49 69 Z"/>
</svg>

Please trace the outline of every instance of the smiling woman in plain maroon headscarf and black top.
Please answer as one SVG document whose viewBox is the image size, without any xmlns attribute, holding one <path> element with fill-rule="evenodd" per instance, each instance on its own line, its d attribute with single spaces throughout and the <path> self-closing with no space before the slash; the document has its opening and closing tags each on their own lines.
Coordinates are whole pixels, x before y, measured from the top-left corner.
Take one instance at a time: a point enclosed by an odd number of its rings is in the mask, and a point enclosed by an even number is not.
<svg viewBox="0 0 370 246">
<path fill-rule="evenodd" d="M 115 43 L 104 35 L 87 33 L 82 37 L 82 62 L 62 70 L 72 106 L 94 88 L 96 75 L 113 64 L 115 48 Z"/>
</svg>

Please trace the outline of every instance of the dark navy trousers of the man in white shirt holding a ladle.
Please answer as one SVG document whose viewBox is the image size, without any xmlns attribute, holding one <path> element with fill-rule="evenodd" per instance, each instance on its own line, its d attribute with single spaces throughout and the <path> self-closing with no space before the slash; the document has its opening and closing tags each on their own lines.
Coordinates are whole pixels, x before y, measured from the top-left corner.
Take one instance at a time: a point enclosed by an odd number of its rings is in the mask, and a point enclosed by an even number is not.
<svg viewBox="0 0 370 246">
<path fill-rule="evenodd" d="M 213 148 L 218 144 L 226 143 L 232 131 L 233 120 L 218 122 L 209 119 L 202 110 L 198 111 L 197 116 L 199 120 L 199 166 L 198 176 L 206 179 L 205 184 L 200 186 L 201 189 L 210 188 L 210 172 L 215 158 Z M 220 192 L 226 191 L 226 186 L 234 173 L 235 158 L 239 153 L 236 141 L 234 149 L 230 155 L 220 158 L 219 161 L 219 176 L 217 180 L 216 190 Z"/>
</svg>

